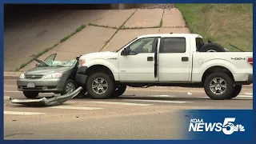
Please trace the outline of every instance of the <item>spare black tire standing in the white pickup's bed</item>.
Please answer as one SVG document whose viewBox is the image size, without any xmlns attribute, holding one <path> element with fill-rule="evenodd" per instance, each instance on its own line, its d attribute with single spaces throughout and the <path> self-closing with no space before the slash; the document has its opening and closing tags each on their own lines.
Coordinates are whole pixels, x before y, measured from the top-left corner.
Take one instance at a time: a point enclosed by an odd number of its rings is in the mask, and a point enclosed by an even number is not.
<svg viewBox="0 0 256 144">
<path fill-rule="evenodd" d="M 211 51 L 211 50 L 214 50 L 214 51 Z M 207 52 L 207 51 L 209 51 L 209 52 L 226 52 L 226 50 L 221 45 L 219 45 L 218 43 L 214 43 L 214 42 L 206 43 L 199 50 L 199 52 Z"/>
</svg>

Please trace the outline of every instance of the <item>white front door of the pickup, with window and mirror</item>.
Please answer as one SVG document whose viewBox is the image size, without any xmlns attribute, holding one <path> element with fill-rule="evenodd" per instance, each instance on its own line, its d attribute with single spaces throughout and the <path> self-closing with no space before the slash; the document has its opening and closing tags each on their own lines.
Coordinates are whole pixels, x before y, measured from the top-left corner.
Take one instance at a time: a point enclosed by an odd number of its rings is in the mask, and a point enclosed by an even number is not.
<svg viewBox="0 0 256 144">
<path fill-rule="evenodd" d="M 157 38 L 139 38 L 126 47 L 128 54 L 119 53 L 119 80 L 122 82 L 154 82 L 154 52 Z"/>
</svg>

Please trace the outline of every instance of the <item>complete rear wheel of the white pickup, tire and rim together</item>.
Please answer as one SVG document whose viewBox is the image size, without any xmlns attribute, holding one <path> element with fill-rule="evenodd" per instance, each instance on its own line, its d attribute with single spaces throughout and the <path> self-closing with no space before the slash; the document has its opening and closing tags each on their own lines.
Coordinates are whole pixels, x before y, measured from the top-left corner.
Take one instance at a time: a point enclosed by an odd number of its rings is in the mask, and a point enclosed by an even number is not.
<svg viewBox="0 0 256 144">
<path fill-rule="evenodd" d="M 224 86 L 226 86 L 226 88 Z M 217 87 L 217 90 L 216 90 L 216 87 Z M 231 94 L 234 92 L 234 82 L 228 74 L 223 72 L 215 72 L 215 73 L 209 74 L 206 77 L 204 81 L 204 90 L 211 99 L 214 99 L 214 100 L 228 99 L 230 98 Z M 222 90 L 222 94 L 220 94 L 221 90 Z"/>
</svg>

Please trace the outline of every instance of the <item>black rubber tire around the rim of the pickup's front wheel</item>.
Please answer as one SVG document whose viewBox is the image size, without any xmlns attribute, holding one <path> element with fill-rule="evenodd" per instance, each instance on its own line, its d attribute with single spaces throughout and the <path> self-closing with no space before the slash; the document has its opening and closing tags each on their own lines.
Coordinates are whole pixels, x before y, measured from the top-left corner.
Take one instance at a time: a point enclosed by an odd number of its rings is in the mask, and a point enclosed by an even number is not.
<svg viewBox="0 0 256 144">
<path fill-rule="evenodd" d="M 97 87 L 95 87 L 93 89 L 92 85 L 95 84 L 94 80 L 98 78 L 102 78 L 104 81 L 102 82 L 102 84 L 106 84 L 106 86 L 102 86 L 100 85 L 98 88 L 102 88 L 101 90 L 98 90 Z M 106 99 L 106 98 L 110 98 L 111 94 L 113 94 L 114 92 L 114 81 L 113 79 L 110 77 L 110 75 L 102 73 L 102 72 L 98 72 L 95 74 L 91 74 L 87 81 L 86 81 L 86 89 L 87 89 L 87 94 L 91 97 L 91 98 L 95 98 L 95 99 Z M 98 90 L 98 93 L 102 93 L 102 94 L 97 94 L 95 91 Z M 104 90 L 104 92 L 103 92 Z"/>
</svg>

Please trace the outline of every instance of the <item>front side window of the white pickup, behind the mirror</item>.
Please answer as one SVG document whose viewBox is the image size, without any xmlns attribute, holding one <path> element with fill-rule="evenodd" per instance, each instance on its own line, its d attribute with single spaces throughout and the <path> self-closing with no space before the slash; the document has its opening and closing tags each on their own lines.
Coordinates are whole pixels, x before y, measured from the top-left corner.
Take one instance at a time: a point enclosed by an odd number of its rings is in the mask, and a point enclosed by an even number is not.
<svg viewBox="0 0 256 144">
<path fill-rule="evenodd" d="M 154 53 L 153 45 L 154 38 L 141 38 L 130 45 L 131 53 Z"/>
</svg>

